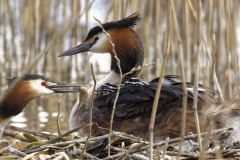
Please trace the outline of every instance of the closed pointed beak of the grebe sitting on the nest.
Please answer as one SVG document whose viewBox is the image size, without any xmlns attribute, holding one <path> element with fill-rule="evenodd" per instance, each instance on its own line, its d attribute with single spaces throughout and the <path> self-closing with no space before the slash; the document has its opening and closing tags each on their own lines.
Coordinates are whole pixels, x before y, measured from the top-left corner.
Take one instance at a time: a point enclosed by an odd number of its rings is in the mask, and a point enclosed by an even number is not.
<svg viewBox="0 0 240 160">
<path fill-rule="evenodd" d="M 81 52 L 86 52 L 89 51 L 91 48 L 91 44 L 80 44 L 74 48 L 71 48 L 65 52 L 63 52 L 62 54 L 60 54 L 58 57 L 63 57 L 63 56 L 71 56 L 77 53 L 81 53 Z"/>
</svg>

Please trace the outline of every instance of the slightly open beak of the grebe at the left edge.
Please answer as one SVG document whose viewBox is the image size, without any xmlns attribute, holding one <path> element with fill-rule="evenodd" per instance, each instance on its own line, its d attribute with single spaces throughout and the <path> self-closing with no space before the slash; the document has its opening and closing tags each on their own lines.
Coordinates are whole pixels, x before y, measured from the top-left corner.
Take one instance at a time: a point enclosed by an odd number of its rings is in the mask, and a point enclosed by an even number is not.
<svg viewBox="0 0 240 160">
<path fill-rule="evenodd" d="M 70 84 L 70 83 L 55 83 L 54 85 L 47 85 L 46 88 L 51 89 L 55 93 L 73 93 L 81 92 L 81 88 L 85 87 L 80 84 Z"/>
</svg>

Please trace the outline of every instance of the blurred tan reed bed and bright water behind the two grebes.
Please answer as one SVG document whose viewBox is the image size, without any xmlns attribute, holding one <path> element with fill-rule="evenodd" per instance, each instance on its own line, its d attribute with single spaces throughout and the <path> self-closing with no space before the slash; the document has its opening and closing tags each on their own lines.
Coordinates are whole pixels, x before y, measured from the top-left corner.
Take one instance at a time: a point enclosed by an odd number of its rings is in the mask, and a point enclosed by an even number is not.
<svg viewBox="0 0 240 160">
<path fill-rule="evenodd" d="M 145 63 L 155 62 L 153 67 L 143 69 L 141 78 L 151 80 L 160 75 L 169 33 L 170 53 L 165 74 L 182 75 L 178 48 L 180 44 L 185 79 L 194 82 L 200 49 L 199 83 L 217 90 L 214 79 L 216 73 L 224 99 L 238 99 L 239 0 L 202 1 L 203 37 L 200 48 L 196 19 L 198 1 L 172 2 L 177 15 L 176 22 L 171 18 L 172 22 L 168 23 L 168 0 L 0 1 L 0 96 L 4 93 L 7 78 L 24 73 L 42 74 L 56 81 L 80 83 L 89 87 L 93 84 L 90 61 L 95 66 L 97 79 L 100 79 L 109 71 L 110 64 L 106 60 L 108 55 L 85 53 L 64 58 L 57 56 L 80 44 L 88 30 L 98 25 L 93 16 L 105 23 L 138 12 L 142 19 L 135 29 L 143 40 Z M 179 33 L 176 32 L 174 23 L 177 23 Z M 36 61 L 41 54 L 42 58 Z M 32 63 L 33 67 L 30 65 Z M 55 113 L 60 101 L 61 127 L 67 131 L 68 115 L 77 97 L 74 94 L 51 95 L 35 100 L 25 109 L 23 117 L 27 121 L 23 123 L 29 129 L 57 132 Z"/>
</svg>

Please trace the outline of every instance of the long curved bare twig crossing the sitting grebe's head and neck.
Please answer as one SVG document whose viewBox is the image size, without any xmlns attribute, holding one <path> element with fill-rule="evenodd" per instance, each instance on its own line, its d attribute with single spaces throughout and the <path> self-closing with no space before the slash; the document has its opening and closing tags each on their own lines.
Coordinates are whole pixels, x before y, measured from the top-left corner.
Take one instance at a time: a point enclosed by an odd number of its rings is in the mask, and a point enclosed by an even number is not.
<svg viewBox="0 0 240 160">
<path fill-rule="evenodd" d="M 112 124 L 113 124 L 114 112 L 115 112 L 115 108 L 116 108 L 117 99 L 118 99 L 118 96 L 119 96 L 119 92 L 120 92 L 120 87 L 121 87 L 122 77 L 123 76 L 122 76 L 122 69 L 120 67 L 120 60 L 117 57 L 117 53 L 116 53 L 116 50 L 115 50 L 115 45 L 112 42 L 111 36 L 103 28 L 101 21 L 99 21 L 95 17 L 94 17 L 94 19 L 96 21 L 98 21 L 99 26 L 102 28 L 103 33 L 105 33 L 108 36 L 108 40 L 109 40 L 110 44 L 112 45 L 112 52 L 114 54 L 114 58 L 117 61 L 117 66 L 118 66 L 118 69 L 119 69 L 119 76 L 120 76 L 119 82 L 118 82 L 118 87 L 117 87 L 117 92 L 116 92 L 116 97 L 115 97 L 115 100 L 114 100 L 114 103 L 113 103 L 112 114 L 111 114 L 111 121 L 110 121 L 110 127 L 109 127 L 108 156 L 110 156 L 110 146 L 111 146 L 111 138 L 110 137 L 111 137 L 111 132 L 112 132 Z"/>
</svg>

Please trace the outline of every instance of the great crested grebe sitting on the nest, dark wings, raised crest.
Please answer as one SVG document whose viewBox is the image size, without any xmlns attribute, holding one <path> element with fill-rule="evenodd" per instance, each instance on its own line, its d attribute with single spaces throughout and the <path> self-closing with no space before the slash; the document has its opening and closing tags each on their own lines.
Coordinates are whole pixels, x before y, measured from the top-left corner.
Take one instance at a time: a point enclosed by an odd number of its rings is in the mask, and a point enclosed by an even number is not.
<svg viewBox="0 0 240 160">
<path fill-rule="evenodd" d="M 143 45 L 138 34 L 132 29 L 140 19 L 139 14 L 134 13 L 122 20 L 103 24 L 103 28 L 110 34 L 118 58 L 121 61 L 121 70 L 125 74 L 132 68 L 143 64 Z M 110 53 L 111 72 L 102 80 L 97 82 L 99 87 L 95 93 L 93 106 L 93 122 L 103 128 L 109 128 L 111 110 L 116 95 L 116 86 L 119 82 L 119 69 L 112 52 L 107 35 L 99 26 L 93 27 L 84 42 L 72 49 L 62 53 L 62 56 L 71 56 L 81 52 Z M 149 139 L 149 123 L 154 96 L 158 85 L 157 79 L 145 82 L 138 78 L 139 71 L 128 75 L 122 81 L 119 98 L 116 105 L 113 130 L 123 131 L 135 136 Z M 181 114 L 183 85 L 178 76 L 165 76 L 157 115 L 155 120 L 155 141 L 164 140 L 166 137 L 179 137 L 181 133 Z M 186 133 L 196 133 L 193 105 L 193 85 L 187 83 L 187 120 Z M 93 88 L 88 89 L 88 95 Z M 89 96 L 90 97 L 90 96 Z M 227 139 L 230 144 L 240 139 L 239 103 L 221 102 L 217 93 L 213 90 L 199 85 L 198 90 L 198 114 L 201 119 L 201 131 L 206 131 L 210 117 L 216 119 L 217 128 L 233 127 L 234 132 Z M 207 104 L 207 105 L 206 105 Z M 79 105 L 79 101 L 72 109 L 69 118 L 70 129 L 88 124 L 89 109 L 88 102 Z M 78 132 L 81 136 L 88 134 L 88 127 Z M 93 126 L 92 135 L 108 133 Z"/>
</svg>

